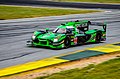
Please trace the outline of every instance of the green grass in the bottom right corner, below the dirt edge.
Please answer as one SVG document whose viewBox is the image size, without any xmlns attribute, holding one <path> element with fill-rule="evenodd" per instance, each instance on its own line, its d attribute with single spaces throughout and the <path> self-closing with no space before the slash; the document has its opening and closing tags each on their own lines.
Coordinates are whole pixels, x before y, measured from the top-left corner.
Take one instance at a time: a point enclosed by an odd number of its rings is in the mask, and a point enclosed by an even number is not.
<svg viewBox="0 0 120 79">
<path fill-rule="evenodd" d="M 120 79 L 120 58 L 83 69 L 72 69 L 36 79 Z"/>
</svg>

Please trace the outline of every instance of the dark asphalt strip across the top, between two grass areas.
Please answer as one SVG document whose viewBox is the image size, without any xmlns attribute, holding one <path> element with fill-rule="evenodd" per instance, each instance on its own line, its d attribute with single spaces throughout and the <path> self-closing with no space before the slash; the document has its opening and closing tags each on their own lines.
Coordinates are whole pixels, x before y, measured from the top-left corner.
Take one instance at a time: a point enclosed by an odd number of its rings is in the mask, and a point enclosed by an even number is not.
<svg viewBox="0 0 120 79">
<path fill-rule="evenodd" d="M 0 0 L 0 4 L 54 6 L 54 7 L 72 7 L 72 8 L 120 9 L 120 4 L 53 2 L 53 1 L 44 1 L 44 0 Z"/>
</svg>

